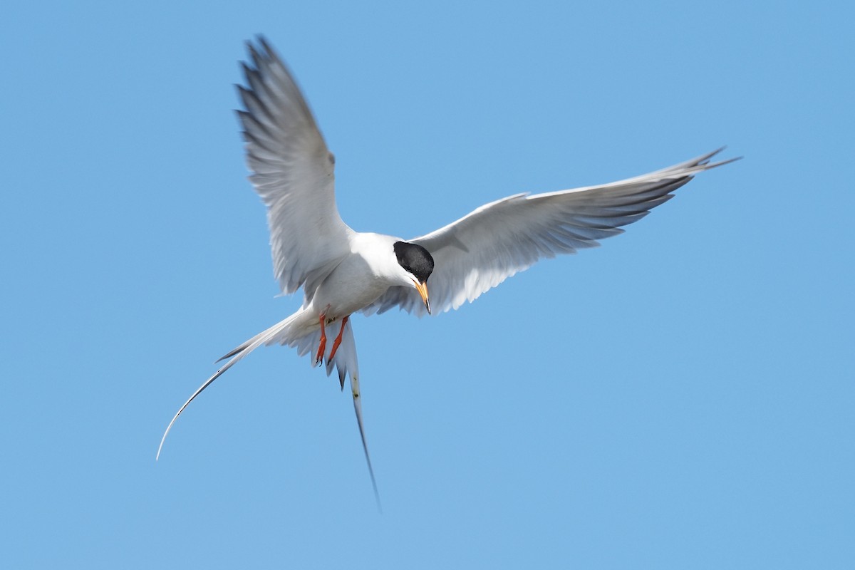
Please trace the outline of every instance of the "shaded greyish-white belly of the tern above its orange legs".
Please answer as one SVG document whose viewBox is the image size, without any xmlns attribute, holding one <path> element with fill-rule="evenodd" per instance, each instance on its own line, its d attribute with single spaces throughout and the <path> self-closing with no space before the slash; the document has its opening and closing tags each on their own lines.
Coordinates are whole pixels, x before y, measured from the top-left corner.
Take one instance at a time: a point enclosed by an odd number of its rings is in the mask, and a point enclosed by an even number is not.
<svg viewBox="0 0 855 570">
<path fill-rule="evenodd" d="M 359 257 L 345 260 L 324 279 L 312 297 L 312 307 L 329 319 L 356 313 L 374 303 L 389 288 Z"/>
</svg>

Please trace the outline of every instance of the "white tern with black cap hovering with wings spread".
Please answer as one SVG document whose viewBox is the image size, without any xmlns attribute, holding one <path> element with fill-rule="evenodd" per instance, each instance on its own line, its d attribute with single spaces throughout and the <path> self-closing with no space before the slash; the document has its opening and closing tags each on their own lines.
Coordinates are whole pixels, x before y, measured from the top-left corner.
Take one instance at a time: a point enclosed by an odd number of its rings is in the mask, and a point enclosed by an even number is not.
<svg viewBox="0 0 855 570">
<path fill-rule="evenodd" d="M 250 180 L 268 209 L 274 274 L 283 293 L 301 287 L 304 303 L 258 333 L 181 406 L 163 433 L 215 379 L 262 344 L 287 344 L 350 378 L 374 496 L 380 497 L 365 442 L 351 314 L 398 307 L 422 316 L 457 309 L 535 261 L 594 247 L 668 201 L 722 149 L 632 179 L 545 194 L 516 194 L 485 204 L 435 232 L 404 240 L 354 232 L 341 220 L 333 191 L 335 159 L 292 74 L 268 42 L 247 43 L 246 86 L 238 86 Z M 430 296 L 428 297 L 428 282 Z M 334 336 L 327 342 L 327 333 Z"/>
</svg>

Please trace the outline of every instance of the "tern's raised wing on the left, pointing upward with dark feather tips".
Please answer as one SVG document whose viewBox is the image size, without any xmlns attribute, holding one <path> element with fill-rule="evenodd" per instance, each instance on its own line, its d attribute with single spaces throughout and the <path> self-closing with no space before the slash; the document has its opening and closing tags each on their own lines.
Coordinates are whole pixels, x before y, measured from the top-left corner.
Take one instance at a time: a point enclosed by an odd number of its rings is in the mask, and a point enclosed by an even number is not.
<svg viewBox="0 0 855 570">
<path fill-rule="evenodd" d="M 284 293 L 311 294 L 349 251 L 352 230 L 335 206 L 335 159 L 300 89 L 264 38 L 247 43 L 247 86 L 238 85 L 250 180 L 268 207 L 274 275 Z"/>
</svg>

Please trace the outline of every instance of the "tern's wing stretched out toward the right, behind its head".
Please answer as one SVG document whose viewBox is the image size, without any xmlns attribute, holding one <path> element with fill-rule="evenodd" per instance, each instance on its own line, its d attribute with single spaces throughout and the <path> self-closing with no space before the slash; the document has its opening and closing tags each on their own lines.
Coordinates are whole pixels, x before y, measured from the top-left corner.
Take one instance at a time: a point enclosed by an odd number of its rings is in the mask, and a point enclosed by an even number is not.
<svg viewBox="0 0 855 570">
<path fill-rule="evenodd" d="M 611 184 L 506 197 L 410 240 L 425 247 L 435 262 L 428 279 L 433 310 L 457 309 L 543 257 L 575 253 L 622 233 L 621 226 L 667 202 L 695 173 L 736 160 L 711 163 L 721 150 Z M 393 307 L 419 316 L 426 312 L 412 287 L 392 287 L 364 312 Z"/>
</svg>

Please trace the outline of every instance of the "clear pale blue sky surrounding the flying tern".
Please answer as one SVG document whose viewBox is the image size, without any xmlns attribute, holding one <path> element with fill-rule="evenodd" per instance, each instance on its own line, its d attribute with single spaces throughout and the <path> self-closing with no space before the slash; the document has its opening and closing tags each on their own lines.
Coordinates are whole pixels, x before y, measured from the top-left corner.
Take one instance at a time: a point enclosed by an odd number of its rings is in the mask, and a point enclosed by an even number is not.
<svg viewBox="0 0 855 570">
<path fill-rule="evenodd" d="M 851 3 L 15 3 L 0 19 L 0 566 L 851 568 Z M 524 4 L 524 6 L 523 6 Z M 275 297 L 233 84 L 263 32 L 357 230 L 728 144 L 597 250 L 354 320 Z"/>
</svg>

